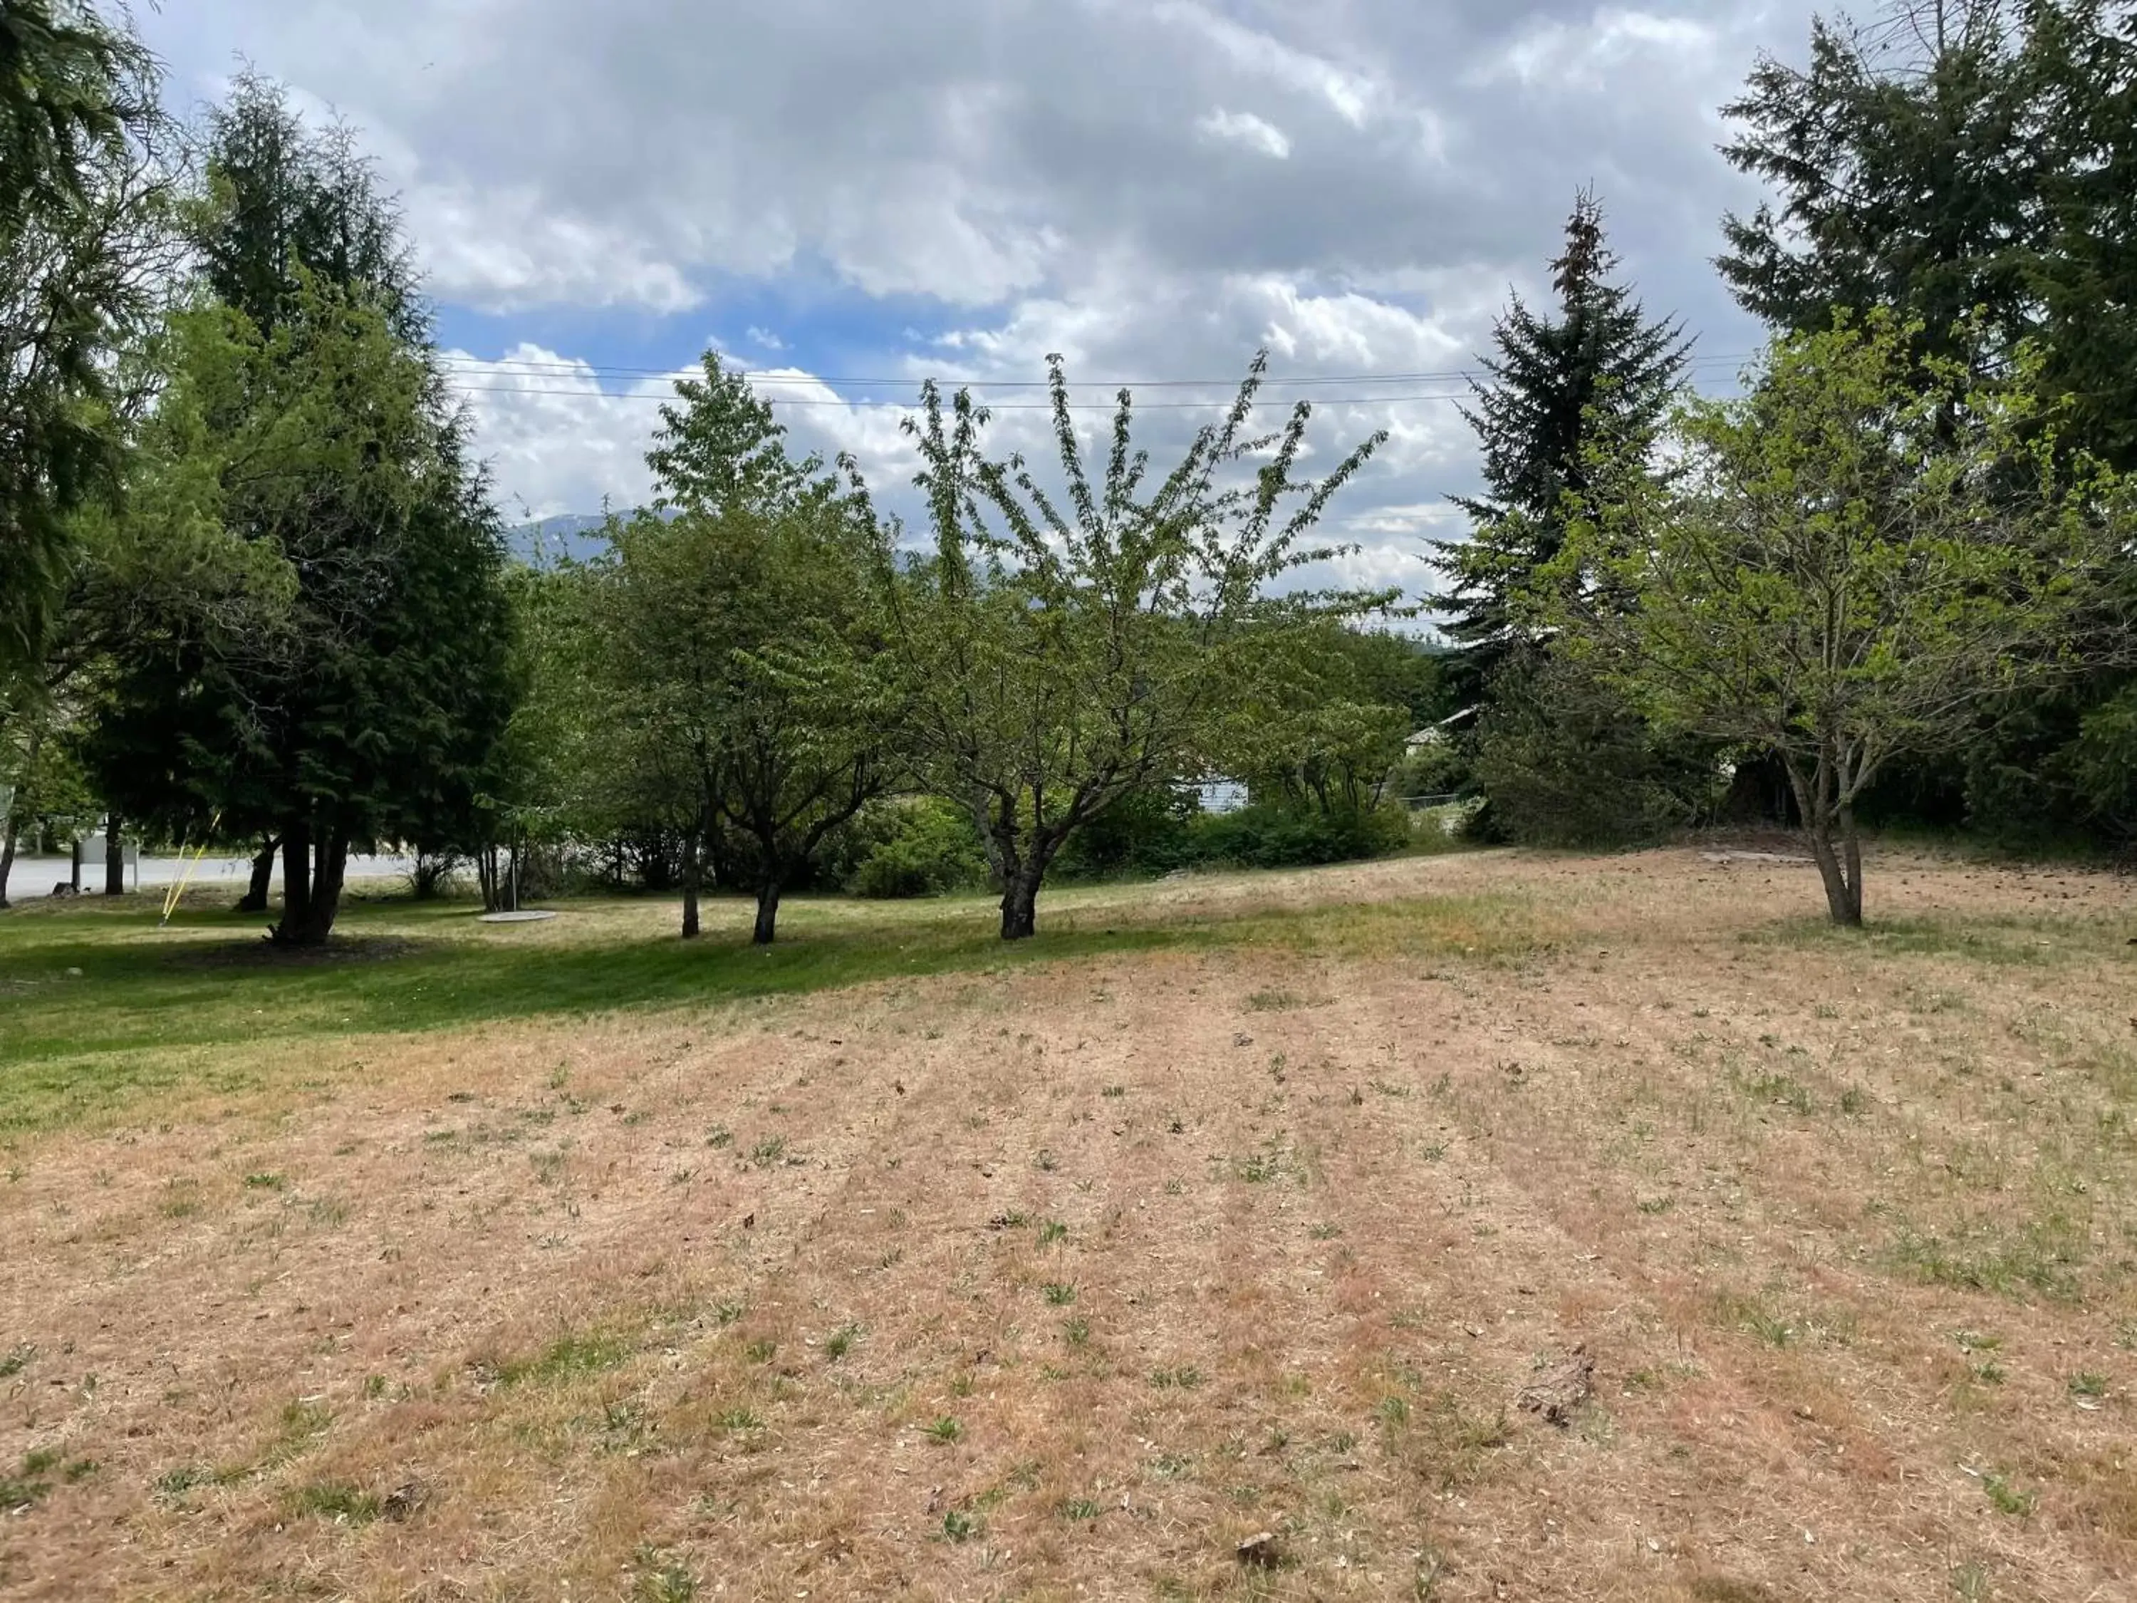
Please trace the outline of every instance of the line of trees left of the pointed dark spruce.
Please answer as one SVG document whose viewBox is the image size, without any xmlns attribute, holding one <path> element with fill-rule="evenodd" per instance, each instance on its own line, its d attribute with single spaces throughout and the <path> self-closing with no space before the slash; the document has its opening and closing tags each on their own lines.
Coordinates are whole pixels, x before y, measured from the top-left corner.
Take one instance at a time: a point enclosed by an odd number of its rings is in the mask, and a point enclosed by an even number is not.
<svg viewBox="0 0 2137 1603">
<path fill-rule="evenodd" d="M 705 887 L 746 889 L 771 940 L 784 891 L 874 846 L 902 887 L 992 874 L 1017 938 L 1122 804 L 1254 765 L 1321 810 L 1378 799 L 1417 714 L 1348 665 L 1393 654 L 1415 682 L 1428 658 L 1353 633 L 1391 596 L 1286 583 L 1333 556 L 1312 530 L 1374 440 L 1304 479 L 1308 410 L 1257 430 L 1259 363 L 1167 470 L 1128 395 L 1086 464 L 1056 363 L 1060 504 L 983 408 L 927 389 L 908 534 L 707 355 L 660 413 L 652 504 L 598 560 L 526 566 L 350 130 L 256 77 L 177 126 L 94 11 L 11 0 L 0 36 L 28 353 L 0 891 L 26 827 L 107 819 L 244 844 L 254 911 L 280 859 L 286 945 L 327 938 L 350 853 L 380 844 L 432 885 L 472 861 L 494 904 L 560 861 L 628 863 L 682 889 L 686 936 Z"/>
</svg>

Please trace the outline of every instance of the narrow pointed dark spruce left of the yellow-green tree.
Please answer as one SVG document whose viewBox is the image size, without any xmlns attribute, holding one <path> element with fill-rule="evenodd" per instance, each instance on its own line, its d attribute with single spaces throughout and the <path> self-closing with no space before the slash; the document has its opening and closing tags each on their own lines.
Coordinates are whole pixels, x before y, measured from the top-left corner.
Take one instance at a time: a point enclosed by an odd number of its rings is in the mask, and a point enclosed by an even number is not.
<svg viewBox="0 0 2137 1603">
<path fill-rule="evenodd" d="M 1618 449 L 1652 440 L 1684 376 L 1682 325 L 1650 318 L 1616 271 L 1603 207 L 1584 190 L 1551 263 L 1556 314 L 1515 297 L 1492 331 L 1489 383 L 1470 383 L 1477 400 L 1462 415 L 1483 447 L 1485 494 L 1455 498 L 1470 534 L 1438 541 L 1432 562 L 1449 579 L 1445 633 L 1468 648 L 1472 686 L 1519 641 L 1517 598 L 1564 543 L 1590 447 L 1603 432 Z"/>
</svg>

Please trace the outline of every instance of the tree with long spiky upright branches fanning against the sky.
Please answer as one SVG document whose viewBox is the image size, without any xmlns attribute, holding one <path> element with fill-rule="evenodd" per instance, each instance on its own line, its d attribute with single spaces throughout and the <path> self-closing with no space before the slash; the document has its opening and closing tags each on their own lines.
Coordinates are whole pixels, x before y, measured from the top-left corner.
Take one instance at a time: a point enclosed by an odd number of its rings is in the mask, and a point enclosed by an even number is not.
<svg viewBox="0 0 2137 1603">
<path fill-rule="evenodd" d="M 1340 547 L 1308 545 L 1329 498 L 1385 438 L 1295 477 L 1310 408 L 1250 434 L 1265 355 L 1222 421 L 1152 481 L 1120 391 L 1094 479 L 1047 361 L 1066 504 L 1017 457 L 987 460 L 987 413 L 927 385 L 906 423 L 925 462 L 934 549 L 889 583 L 891 641 L 925 782 L 972 816 L 1002 883 L 1002 938 L 1036 930 L 1068 836 L 1116 802 L 1197 778 L 1227 707 L 1286 631 L 1389 596 L 1278 592 Z"/>
</svg>

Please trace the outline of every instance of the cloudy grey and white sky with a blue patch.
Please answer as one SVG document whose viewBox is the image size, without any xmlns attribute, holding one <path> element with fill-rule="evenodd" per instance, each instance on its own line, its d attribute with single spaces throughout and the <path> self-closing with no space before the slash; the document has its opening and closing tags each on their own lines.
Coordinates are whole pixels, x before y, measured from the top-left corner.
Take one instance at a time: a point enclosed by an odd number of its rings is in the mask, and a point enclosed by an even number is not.
<svg viewBox="0 0 2137 1603">
<path fill-rule="evenodd" d="M 1714 145 L 1808 4 L 1656 0 L 167 0 L 182 103 L 239 58 L 355 122 L 438 301 L 513 517 L 645 494 L 662 374 L 716 346 L 895 502 L 917 380 L 1036 440 L 1043 357 L 1139 385 L 1150 442 L 1257 346 L 1323 460 L 1391 440 L 1333 524 L 1359 577 L 1475 481 L 1451 395 L 1534 297 L 1581 184 L 1648 306 L 1727 385 L 1718 286 L 1752 197 Z M 1184 383 L 1184 380 L 1205 380 Z M 1319 383 L 1304 383 L 1319 380 Z M 1331 383 L 1344 380 L 1344 383 Z M 1163 402 L 1163 406 L 1156 406 Z M 1103 410 L 1086 415 L 1092 427 Z"/>
</svg>

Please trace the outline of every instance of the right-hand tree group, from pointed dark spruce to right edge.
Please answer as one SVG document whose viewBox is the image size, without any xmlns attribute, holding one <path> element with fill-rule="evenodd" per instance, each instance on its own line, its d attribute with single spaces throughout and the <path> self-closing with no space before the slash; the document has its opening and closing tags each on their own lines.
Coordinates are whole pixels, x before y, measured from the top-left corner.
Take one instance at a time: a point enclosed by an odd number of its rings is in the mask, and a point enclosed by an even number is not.
<svg viewBox="0 0 2137 1603">
<path fill-rule="evenodd" d="M 1718 271 L 1772 344 L 1684 393 L 1581 199 L 1500 321 L 1485 496 L 1447 543 L 1485 827 L 1861 823 L 2137 846 L 2137 9 L 1908 0 L 1761 60 Z"/>
</svg>

